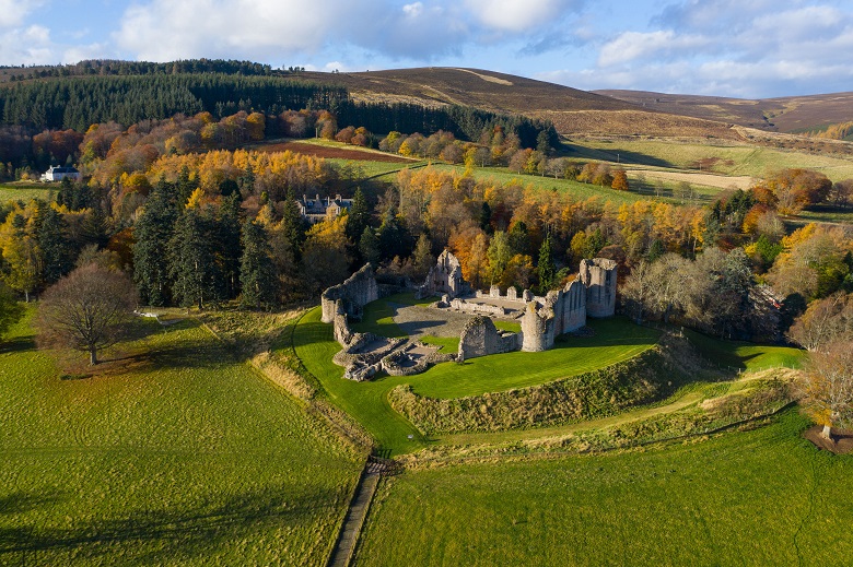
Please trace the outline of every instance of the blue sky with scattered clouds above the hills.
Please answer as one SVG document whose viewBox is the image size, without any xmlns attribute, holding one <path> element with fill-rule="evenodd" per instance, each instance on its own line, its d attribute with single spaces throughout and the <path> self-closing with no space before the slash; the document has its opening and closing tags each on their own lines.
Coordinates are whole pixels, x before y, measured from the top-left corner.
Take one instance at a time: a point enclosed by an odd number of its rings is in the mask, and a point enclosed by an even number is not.
<svg viewBox="0 0 853 567">
<path fill-rule="evenodd" d="M 0 0 L 0 64 L 466 67 L 583 90 L 853 91 L 853 0 Z"/>
</svg>

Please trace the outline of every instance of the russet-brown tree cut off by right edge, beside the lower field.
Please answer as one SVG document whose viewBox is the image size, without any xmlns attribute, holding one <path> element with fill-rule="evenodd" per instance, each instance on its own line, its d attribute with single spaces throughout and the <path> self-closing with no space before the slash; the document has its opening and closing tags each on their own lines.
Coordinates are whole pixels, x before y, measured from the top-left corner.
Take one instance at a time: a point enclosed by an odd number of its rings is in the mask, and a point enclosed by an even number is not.
<svg viewBox="0 0 853 567">
<path fill-rule="evenodd" d="M 853 341 L 813 353 L 802 382 L 804 403 L 830 438 L 832 427 L 853 427 Z"/>
</svg>

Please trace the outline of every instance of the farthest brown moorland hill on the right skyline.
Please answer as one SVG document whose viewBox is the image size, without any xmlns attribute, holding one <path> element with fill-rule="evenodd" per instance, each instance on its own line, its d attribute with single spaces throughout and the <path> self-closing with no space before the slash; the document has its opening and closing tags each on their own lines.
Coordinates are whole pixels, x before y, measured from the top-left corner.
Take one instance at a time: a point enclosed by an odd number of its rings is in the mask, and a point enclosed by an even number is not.
<svg viewBox="0 0 853 567">
<path fill-rule="evenodd" d="M 853 120 L 853 93 L 746 99 L 664 94 L 646 91 L 594 91 L 647 110 L 732 122 L 778 132 L 803 132 Z"/>
</svg>

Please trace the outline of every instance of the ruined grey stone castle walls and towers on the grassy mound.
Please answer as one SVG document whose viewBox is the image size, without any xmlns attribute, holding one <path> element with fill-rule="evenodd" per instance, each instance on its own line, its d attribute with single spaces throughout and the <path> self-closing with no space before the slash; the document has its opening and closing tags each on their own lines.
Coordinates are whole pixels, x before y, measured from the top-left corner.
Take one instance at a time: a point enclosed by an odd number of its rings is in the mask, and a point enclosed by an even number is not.
<svg viewBox="0 0 853 567">
<path fill-rule="evenodd" d="M 518 294 L 514 287 L 502 295 L 496 285 L 488 293 L 471 293 L 470 285 L 461 276 L 459 260 L 449 250 L 444 250 L 417 295 L 441 295 L 441 300 L 432 304 L 433 309 L 471 316 L 463 328 L 455 355 L 441 354 L 435 347 L 412 340 L 386 339 L 350 330 L 349 319 L 361 319 L 364 306 L 378 298 L 370 263 L 342 284 L 323 293 L 323 321 L 334 324 L 335 340 L 342 347 L 335 362 L 347 368 L 347 378 L 354 380 L 367 379 L 379 369 L 397 376 L 416 374 L 430 364 L 454 357 L 464 362 L 514 351 L 541 352 L 552 349 L 557 336 L 582 329 L 587 317 L 615 314 L 617 269 L 614 260 L 583 260 L 573 281 L 562 290 L 548 292 L 545 297 L 536 296 L 529 290 Z M 492 318 L 516 321 L 521 331 L 499 331 Z"/>
</svg>

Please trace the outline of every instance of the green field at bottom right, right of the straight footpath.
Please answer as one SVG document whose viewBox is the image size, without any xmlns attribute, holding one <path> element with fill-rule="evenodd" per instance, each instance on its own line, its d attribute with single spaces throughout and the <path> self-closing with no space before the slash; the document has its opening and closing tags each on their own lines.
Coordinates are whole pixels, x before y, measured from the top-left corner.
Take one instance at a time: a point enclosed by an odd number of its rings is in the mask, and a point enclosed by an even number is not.
<svg viewBox="0 0 853 567">
<path fill-rule="evenodd" d="M 806 426 L 788 411 L 703 442 L 408 471 L 381 486 L 359 565 L 843 565 L 853 458 Z"/>
</svg>

